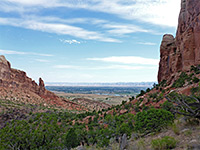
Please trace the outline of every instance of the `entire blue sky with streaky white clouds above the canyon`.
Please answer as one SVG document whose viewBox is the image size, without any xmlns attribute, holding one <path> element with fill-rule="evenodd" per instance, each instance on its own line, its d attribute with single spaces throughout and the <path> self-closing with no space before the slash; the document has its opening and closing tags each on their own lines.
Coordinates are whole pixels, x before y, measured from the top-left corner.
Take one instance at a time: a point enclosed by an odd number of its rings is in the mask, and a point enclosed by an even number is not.
<svg viewBox="0 0 200 150">
<path fill-rule="evenodd" d="M 156 81 L 180 0 L 1 0 L 0 54 L 46 82 Z"/>
</svg>

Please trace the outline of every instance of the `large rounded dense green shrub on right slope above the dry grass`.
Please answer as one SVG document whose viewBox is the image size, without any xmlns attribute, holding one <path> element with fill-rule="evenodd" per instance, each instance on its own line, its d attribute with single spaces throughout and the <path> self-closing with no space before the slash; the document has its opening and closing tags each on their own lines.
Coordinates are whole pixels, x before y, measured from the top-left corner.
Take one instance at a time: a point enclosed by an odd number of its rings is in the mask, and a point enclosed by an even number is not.
<svg viewBox="0 0 200 150">
<path fill-rule="evenodd" d="M 164 109 L 149 109 L 135 115 L 135 131 L 139 133 L 150 133 L 160 131 L 171 124 L 174 116 Z"/>
</svg>

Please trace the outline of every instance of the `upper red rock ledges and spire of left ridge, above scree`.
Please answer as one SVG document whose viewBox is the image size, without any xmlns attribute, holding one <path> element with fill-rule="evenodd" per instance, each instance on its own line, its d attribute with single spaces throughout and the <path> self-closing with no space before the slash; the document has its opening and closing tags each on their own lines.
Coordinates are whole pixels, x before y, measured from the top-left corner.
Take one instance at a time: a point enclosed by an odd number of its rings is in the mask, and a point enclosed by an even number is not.
<svg viewBox="0 0 200 150">
<path fill-rule="evenodd" d="M 12 69 L 6 58 L 0 56 L 0 87 L 29 90 L 45 99 L 59 99 L 54 93 L 47 91 L 40 78 L 39 85 L 26 76 L 24 71 Z"/>
</svg>

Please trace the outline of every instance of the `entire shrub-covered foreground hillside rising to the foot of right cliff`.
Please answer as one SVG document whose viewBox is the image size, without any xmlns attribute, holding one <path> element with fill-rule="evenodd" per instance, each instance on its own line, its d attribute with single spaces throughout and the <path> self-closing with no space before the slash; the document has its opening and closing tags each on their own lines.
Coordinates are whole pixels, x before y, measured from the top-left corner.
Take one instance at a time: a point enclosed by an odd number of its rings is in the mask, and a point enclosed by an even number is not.
<svg viewBox="0 0 200 150">
<path fill-rule="evenodd" d="M 182 86 L 194 78 L 184 78 Z M 137 98 L 93 112 L 1 100 L 0 149 L 198 148 L 200 85 L 194 83 L 191 96 L 163 81 Z"/>
</svg>

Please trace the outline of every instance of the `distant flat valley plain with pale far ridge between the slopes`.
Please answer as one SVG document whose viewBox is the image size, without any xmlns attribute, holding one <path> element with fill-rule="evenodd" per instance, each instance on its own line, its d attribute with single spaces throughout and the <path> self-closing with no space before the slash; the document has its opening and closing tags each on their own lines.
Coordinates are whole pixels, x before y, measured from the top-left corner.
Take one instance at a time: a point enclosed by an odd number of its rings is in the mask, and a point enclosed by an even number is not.
<svg viewBox="0 0 200 150">
<path fill-rule="evenodd" d="M 151 88 L 153 83 L 57 83 L 57 86 L 53 85 L 46 86 L 46 88 L 56 95 L 73 102 L 76 101 L 76 103 L 78 98 L 82 99 L 82 101 L 87 99 L 109 105 L 118 105 L 122 101 L 135 97 L 141 90 Z"/>
</svg>

